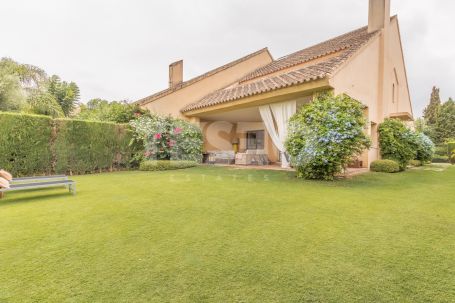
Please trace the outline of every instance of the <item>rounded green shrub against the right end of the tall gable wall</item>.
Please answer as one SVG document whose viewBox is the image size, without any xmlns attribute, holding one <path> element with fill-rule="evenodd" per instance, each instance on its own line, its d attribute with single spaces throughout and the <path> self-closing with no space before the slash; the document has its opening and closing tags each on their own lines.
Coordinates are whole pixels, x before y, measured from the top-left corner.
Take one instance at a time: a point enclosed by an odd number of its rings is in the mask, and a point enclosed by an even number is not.
<svg viewBox="0 0 455 303">
<path fill-rule="evenodd" d="M 417 156 L 415 134 L 397 119 L 385 119 L 378 132 L 382 158 L 398 162 L 400 169 L 405 170 Z"/>
</svg>

